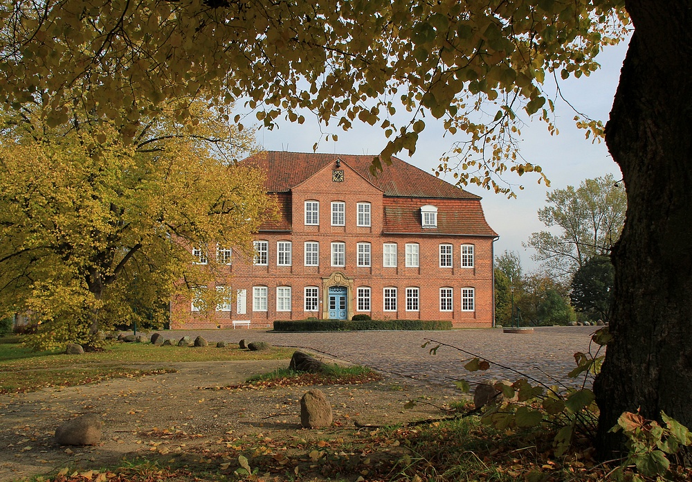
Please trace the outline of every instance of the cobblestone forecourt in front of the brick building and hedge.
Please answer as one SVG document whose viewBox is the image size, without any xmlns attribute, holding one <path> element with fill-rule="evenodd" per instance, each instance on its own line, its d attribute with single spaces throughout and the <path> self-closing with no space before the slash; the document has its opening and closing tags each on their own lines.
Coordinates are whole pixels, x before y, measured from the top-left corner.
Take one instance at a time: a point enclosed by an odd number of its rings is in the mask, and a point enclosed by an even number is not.
<svg viewBox="0 0 692 482">
<path fill-rule="evenodd" d="M 286 333 L 260 330 L 170 330 L 166 338 L 183 335 L 208 340 L 237 343 L 268 341 L 274 346 L 310 348 L 347 362 L 370 366 L 390 375 L 399 375 L 426 384 L 449 386 L 453 380 L 478 382 L 487 378 L 516 380 L 521 377 L 511 369 L 546 384 L 575 384 L 580 380 L 567 377 L 574 368 L 574 353 L 588 352 L 594 326 L 540 327 L 532 334 L 508 334 L 500 329 L 451 331 L 366 331 Z M 491 369 L 471 373 L 464 369 L 470 355 L 442 346 L 437 355 L 430 355 L 430 343 L 421 348 L 425 339 L 434 339 L 461 348 L 491 361 Z M 595 351 L 598 346 L 593 346 Z M 500 368 L 498 364 L 507 368 Z M 511 369 L 509 369 L 511 368 Z"/>
</svg>

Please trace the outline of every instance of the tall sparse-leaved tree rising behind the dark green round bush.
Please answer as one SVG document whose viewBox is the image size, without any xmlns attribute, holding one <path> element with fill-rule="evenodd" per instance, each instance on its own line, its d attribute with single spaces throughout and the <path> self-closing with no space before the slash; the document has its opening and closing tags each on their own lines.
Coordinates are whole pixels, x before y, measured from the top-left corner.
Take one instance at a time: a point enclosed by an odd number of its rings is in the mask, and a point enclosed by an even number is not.
<svg viewBox="0 0 692 482">
<path fill-rule="evenodd" d="M 555 274 L 573 276 L 594 256 L 610 256 L 625 221 L 625 190 L 610 174 L 546 195 L 538 219 L 550 231 L 532 233 L 527 245 Z"/>
</svg>

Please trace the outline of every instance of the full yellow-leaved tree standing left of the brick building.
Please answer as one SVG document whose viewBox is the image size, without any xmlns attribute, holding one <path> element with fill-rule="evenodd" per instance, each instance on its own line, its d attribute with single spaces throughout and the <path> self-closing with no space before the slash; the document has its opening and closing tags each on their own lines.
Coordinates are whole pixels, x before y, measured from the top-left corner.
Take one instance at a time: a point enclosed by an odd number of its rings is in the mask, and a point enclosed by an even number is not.
<svg viewBox="0 0 692 482">
<path fill-rule="evenodd" d="M 55 127 L 40 105 L 5 113 L 0 309 L 32 314 L 34 346 L 95 346 L 114 324 L 161 321 L 172 294 L 218 274 L 214 253 L 210 269 L 192 266 L 191 247 L 251 253 L 264 175 L 222 159 L 251 139 L 203 107 L 194 125 L 143 118 L 135 143 L 82 111 Z"/>
</svg>

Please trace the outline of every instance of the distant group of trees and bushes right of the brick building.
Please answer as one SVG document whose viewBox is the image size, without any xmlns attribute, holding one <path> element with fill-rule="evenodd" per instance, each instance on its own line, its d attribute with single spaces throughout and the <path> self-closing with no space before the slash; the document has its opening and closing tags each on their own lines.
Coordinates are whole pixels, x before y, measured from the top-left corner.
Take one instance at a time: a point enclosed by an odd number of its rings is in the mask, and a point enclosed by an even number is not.
<svg viewBox="0 0 692 482">
<path fill-rule="evenodd" d="M 548 229 L 531 234 L 524 245 L 536 250 L 540 268 L 525 273 L 517 251 L 495 258 L 495 322 L 607 322 L 614 282 L 610 251 L 625 220 L 624 189 L 605 175 L 556 189 L 546 201 L 538 218 Z"/>
</svg>

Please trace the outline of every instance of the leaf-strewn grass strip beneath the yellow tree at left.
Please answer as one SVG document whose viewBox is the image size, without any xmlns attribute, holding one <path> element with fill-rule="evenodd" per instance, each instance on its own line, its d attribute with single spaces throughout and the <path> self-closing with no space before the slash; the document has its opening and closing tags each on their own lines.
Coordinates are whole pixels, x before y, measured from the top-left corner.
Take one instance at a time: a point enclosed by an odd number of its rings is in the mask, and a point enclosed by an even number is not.
<svg viewBox="0 0 692 482">
<path fill-rule="evenodd" d="M 176 362 L 289 359 L 292 353 L 290 348 L 251 352 L 235 345 L 188 348 L 114 343 L 102 352 L 65 355 L 62 351 L 34 352 L 19 343 L 0 343 L 0 393 L 166 373 L 174 370 L 165 365 Z"/>
</svg>

